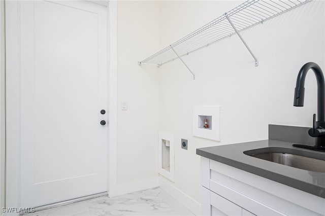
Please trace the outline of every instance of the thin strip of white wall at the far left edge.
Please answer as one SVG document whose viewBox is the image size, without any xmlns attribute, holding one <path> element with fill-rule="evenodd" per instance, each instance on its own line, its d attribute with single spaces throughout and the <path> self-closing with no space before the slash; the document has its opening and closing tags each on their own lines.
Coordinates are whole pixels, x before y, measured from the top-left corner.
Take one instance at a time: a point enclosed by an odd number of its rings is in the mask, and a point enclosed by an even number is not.
<svg viewBox="0 0 325 216">
<path fill-rule="evenodd" d="M 0 208 L 5 207 L 5 1 L 0 1 Z"/>
</svg>

